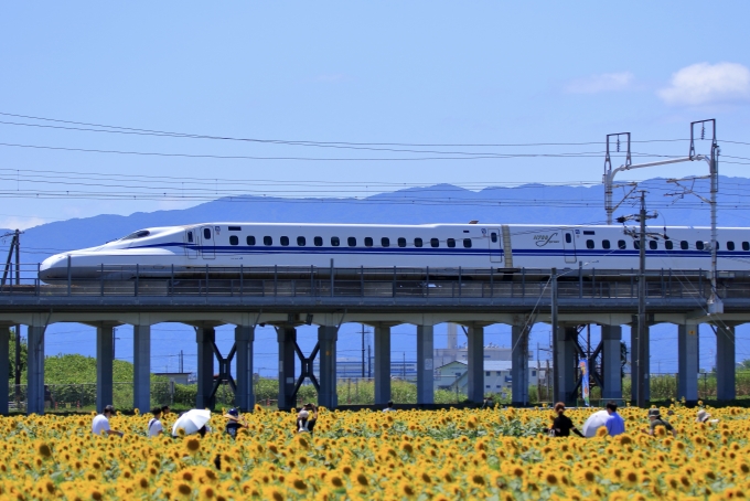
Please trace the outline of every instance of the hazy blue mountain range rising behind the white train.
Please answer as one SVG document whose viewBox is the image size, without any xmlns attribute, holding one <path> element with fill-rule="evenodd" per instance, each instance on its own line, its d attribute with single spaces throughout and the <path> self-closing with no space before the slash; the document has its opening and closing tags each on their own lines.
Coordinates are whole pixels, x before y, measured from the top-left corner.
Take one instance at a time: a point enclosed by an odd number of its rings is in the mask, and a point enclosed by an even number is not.
<svg viewBox="0 0 750 501">
<path fill-rule="evenodd" d="M 656 225 L 708 225 L 709 211 L 694 195 L 664 196 L 679 191 L 663 179 L 645 181 L 650 191 L 649 207 L 663 217 Z M 744 178 L 721 178 L 719 225 L 744 226 L 749 218 L 733 206 L 750 189 Z M 707 196 L 706 180 L 695 190 Z M 625 189 L 617 189 L 615 203 Z M 171 226 L 202 222 L 299 222 L 299 223 L 465 223 L 471 220 L 493 223 L 603 224 L 602 185 L 525 184 L 516 188 L 489 186 L 471 191 L 451 184 L 408 188 L 366 199 L 281 199 L 240 196 L 218 199 L 184 210 L 136 212 L 128 216 L 97 215 L 43 224 L 22 236 L 24 263 L 76 248 L 99 245 L 143 227 Z M 673 203 L 674 202 L 674 203 Z M 733 205 L 735 204 L 735 205 Z M 636 212 L 634 201 L 624 203 L 617 214 Z"/>
</svg>

